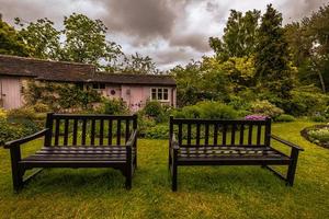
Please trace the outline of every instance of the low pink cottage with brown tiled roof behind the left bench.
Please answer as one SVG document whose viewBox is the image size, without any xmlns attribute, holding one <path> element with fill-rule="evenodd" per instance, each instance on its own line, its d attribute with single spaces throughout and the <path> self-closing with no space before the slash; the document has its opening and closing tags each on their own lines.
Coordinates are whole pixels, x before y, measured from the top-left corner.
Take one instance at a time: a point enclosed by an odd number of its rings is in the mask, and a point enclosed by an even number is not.
<svg viewBox="0 0 329 219">
<path fill-rule="evenodd" d="M 87 64 L 0 55 L 0 105 L 5 110 L 24 105 L 22 88 L 31 79 L 95 89 L 104 97 L 122 99 L 133 112 L 148 100 L 177 104 L 175 81 L 169 76 L 109 73 Z"/>
</svg>

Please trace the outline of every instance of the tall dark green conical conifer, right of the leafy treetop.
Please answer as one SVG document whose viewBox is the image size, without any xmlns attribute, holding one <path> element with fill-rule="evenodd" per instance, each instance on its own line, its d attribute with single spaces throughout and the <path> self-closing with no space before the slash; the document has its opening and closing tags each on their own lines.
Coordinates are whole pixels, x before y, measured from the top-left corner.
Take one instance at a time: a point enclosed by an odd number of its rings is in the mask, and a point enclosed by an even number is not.
<svg viewBox="0 0 329 219">
<path fill-rule="evenodd" d="M 290 54 L 282 28 L 282 14 L 272 4 L 262 15 L 258 37 L 254 64 L 260 88 L 266 88 L 280 97 L 288 97 L 293 89 Z"/>
</svg>

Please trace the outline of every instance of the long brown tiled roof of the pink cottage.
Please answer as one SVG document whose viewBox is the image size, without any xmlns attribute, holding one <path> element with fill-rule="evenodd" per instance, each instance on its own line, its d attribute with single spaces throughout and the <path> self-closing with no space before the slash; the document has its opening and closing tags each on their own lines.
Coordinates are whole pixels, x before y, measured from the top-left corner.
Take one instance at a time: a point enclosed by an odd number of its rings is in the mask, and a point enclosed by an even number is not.
<svg viewBox="0 0 329 219">
<path fill-rule="evenodd" d="M 0 76 L 33 77 L 58 82 L 175 85 L 169 76 L 98 72 L 87 64 L 0 55 Z"/>
</svg>

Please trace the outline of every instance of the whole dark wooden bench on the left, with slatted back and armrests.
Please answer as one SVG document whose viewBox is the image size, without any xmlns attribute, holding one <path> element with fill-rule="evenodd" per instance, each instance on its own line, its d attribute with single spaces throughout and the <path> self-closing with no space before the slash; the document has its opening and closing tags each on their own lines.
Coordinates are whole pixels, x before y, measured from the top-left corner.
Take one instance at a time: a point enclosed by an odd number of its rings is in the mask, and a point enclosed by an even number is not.
<svg viewBox="0 0 329 219">
<path fill-rule="evenodd" d="M 36 153 L 21 158 L 21 146 L 44 137 Z M 10 149 L 15 191 L 39 168 L 114 168 L 126 177 L 126 188 L 137 166 L 137 116 L 47 114 L 46 128 L 32 136 L 7 142 Z"/>
</svg>

